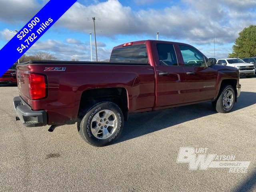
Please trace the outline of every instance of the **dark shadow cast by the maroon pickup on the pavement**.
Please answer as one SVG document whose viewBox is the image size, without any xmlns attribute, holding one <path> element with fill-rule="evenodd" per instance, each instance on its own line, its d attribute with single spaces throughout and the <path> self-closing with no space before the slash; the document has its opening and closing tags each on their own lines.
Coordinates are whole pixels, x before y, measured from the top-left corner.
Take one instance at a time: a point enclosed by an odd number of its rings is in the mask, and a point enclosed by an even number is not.
<svg viewBox="0 0 256 192">
<path fill-rule="evenodd" d="M 255 92 L 241 92 L 233 112 L 256 104 Z M 211 102 L 194 104 L 154 112 L 130 114 L 125 122 L 122 136 L 115 142 L 123 142 L 164 128 L 215 114 Z M 223 114 L 224 115 L 224 114 Z"/>
</svg>

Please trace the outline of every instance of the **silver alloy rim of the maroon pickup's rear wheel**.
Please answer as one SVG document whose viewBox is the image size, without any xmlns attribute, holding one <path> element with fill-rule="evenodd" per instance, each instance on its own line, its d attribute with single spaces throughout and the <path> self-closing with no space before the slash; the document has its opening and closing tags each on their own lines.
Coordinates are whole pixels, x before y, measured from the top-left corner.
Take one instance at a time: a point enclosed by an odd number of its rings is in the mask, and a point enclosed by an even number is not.
<svg viewBox="0 0 256 192">
<path fill-rule="evenodd" d="M 118 119 L 111 110 L 101 110 L 92 118 L 91 132 L 97 139 L 107 139 L 116 131 Z"/>
</svg>

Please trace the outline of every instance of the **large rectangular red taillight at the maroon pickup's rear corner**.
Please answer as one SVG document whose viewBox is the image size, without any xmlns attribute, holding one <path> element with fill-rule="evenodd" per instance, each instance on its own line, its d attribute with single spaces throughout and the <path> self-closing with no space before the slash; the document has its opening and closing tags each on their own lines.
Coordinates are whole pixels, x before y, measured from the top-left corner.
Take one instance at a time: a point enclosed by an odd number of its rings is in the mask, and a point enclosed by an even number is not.
<svg viewBox="0 0 256 192">
<path fill-rule="evenodd" d="M 30 99 L 36 100 L 46 97 L 46 84 L 44 75 L 31 73 L 28 75 Z"/>
</svg>

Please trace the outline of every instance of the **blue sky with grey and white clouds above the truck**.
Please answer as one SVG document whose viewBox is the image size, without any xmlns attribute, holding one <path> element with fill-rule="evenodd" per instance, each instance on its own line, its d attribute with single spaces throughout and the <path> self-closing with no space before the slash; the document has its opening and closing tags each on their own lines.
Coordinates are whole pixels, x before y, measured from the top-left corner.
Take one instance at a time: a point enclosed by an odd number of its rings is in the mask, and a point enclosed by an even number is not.
<svg viewBox="0 0 256 192">
<path fill-rule="evenodd" d="M 0 0 L 0 47 L 20 30 L 48 0 Z M 186 42 L 206 56 L 226 57 L 238 33 L 256 25 L 256 0 L 78 0 L 26 52 L 51 52 L 58 60 L 90 60 L 90 36 L 97 17 L 98 57 L 125 42 L 155 39 Z M 92 36 L 92 39 L 94 36 Z M 93 49 L 93 57 L 95 52 Z"/>
</svg>

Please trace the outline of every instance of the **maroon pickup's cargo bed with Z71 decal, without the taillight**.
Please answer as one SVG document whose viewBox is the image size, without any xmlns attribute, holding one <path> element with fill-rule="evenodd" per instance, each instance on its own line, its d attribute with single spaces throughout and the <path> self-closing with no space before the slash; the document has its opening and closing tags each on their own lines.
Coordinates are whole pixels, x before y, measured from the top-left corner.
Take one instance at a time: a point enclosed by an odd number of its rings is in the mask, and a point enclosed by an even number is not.
<svg viewBox="0 0 256 192">
<path fill-rule="evenodd" d="M 30 73 L 45 76 L 46 98 L 30 99 Z M 48 124 L 75 121 L 84 90 L 124 88 L 130 112 L 148 110 L 155 101 L 154 68 L 145 63 L 30 61 L 17 65 L 17 79 L 20 97 L 32 110 L 46 109 Z"/>
</svg>

